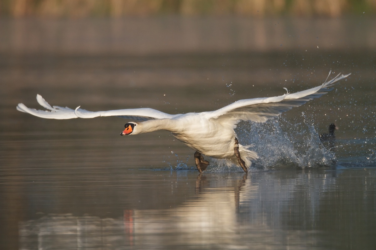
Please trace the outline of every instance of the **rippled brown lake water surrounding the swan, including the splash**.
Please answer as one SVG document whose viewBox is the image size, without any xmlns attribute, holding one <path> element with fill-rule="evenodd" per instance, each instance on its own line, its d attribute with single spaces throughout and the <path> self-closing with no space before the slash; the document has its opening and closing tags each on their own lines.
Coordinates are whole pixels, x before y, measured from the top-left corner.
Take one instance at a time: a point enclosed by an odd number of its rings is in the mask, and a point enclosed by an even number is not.
<svg viewBox="0 0 376 250">
<path fill-rule="evenodd" d="M 376 20 L 0 20 L 0 249 L 374 249 Z M 260 159 L 199 174 L 167 132 L 117 117 L 47 120 L 19 102 L 91 111 L 221 108 L 352 73 L 264 124 Z M 332 74 L 334 76 L 334 74 Z M 318 139 L 330 123 L 335 152 Z"/>
</svg>

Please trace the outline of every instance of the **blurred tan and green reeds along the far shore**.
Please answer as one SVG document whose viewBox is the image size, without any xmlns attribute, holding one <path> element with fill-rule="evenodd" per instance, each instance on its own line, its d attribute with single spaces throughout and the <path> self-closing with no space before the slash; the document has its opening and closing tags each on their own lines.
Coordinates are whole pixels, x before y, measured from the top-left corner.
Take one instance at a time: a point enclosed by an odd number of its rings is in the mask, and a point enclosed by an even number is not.
<svg viewBox="0 0 376 250">
<path fill-rule="evenodd" d="M 156 15 L 329 16 L 375 13 L 373 0 L 2 0 L 3 16 L 88 18 Z"/>
</svg>

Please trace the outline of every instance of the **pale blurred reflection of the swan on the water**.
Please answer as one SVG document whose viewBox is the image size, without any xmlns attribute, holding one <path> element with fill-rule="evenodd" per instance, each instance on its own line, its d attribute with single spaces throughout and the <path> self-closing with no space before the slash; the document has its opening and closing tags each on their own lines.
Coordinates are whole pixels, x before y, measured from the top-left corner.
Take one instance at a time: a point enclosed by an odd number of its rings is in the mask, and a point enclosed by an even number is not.
<svg viewBox="0 0 376 250">
<path fill-rule="evenodd" d="M 61 242 L 61 238 L 67 239 L 64 244 L 67 249 L 100 244 L 139 247 L 136 249 L 156 249 L 156 246 L 166 244 L 230 246 L 236 240 L 233 237 L 238 237 L 233 233 L 237 230 L 240 192 L 246 185 L 247 174 L 227 176 L 232 181 L 229 183 L 227 178 L 223 178 L 219 186 L 218 182 L 211 183 L 212 177 L 214 174 L 200 174 L 196 180 L 196 195 L 173 209 L 127 209 L 120 219 L 49 215 L 20 223 L 21 246 L 33 249 L 35 246 L 28 244 L 38 242 L 41 249 L 49 249 L 59 240 Z"/>
</svg>

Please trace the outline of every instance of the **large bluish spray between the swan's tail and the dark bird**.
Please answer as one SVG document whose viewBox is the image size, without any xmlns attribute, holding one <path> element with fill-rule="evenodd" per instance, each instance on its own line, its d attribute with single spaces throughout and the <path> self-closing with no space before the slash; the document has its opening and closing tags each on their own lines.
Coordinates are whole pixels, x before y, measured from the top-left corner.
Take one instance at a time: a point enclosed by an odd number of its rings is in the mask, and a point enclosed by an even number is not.
<svg viewBox="0 0 376 250">
<path fill-rule="evenodd" d="M 291 123 L 277 117 L 266 123 L 240 123 L 238 138 L 243 145 L 254 144 L 259 159 L 252 168 L 280 169 L 331 166 L 335 155 L 324 148 L 312 122 Z"/>
</svg>

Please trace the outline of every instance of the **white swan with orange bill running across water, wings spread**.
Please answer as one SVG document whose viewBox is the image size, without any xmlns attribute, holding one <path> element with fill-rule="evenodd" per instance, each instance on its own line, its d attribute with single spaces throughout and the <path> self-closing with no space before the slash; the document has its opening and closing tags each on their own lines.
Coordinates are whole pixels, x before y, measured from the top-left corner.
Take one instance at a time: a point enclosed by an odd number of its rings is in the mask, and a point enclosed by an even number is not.
<svg viewBox="0 0 376 250">
<path fill-rule="evenodd" d="M 262 123 L 276 117 L 293 107 L 303 105 L 330 91 L 335 82 L 350 74 L 340 75 L 314 88 L 297 93 L 287 93 L 282 96 L 238 100 L 215 111 L 187 114 L 166 114 L 151 108 L 118 109 L 91 112 L 85 109 L 63 108 L 50 106 L 39 94 L 36 99 L 40 105 L 49 111 L 27 108 L 19 103 L 17 110 L 37 117 L 49 119 L 93 118 L 99 116 L 121 116 L 138 122 L 125 124 L 121 135 L 137 135 L 156 130 L 170 131 L 173 136 L 196 150 L 195 162 L 199 172 L 209 165 L 201 154 L 217 159 L 230 159 L 247 172 L 250 160 L 258 159 L 257 153 L 250 151 L 247 146 L 238 143 L 234 128 L 240 120 Z M 286 88 L 285 88 L 286 89 Z M 287 90 L 287 89 L 286 89 Z M 244 162 L 245 161 L 245 162 Z"/>
</svg>

